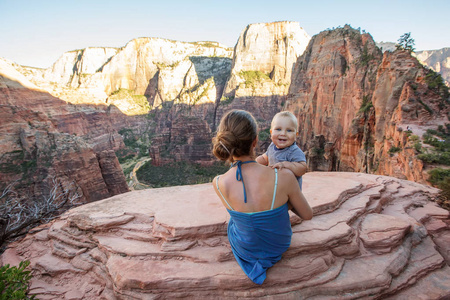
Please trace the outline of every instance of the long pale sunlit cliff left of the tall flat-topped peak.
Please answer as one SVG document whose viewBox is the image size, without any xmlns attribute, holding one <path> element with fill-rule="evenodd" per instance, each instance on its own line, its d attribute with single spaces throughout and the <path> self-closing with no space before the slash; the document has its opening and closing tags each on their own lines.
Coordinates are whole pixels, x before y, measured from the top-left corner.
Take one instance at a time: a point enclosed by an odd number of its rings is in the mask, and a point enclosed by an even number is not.
<svg viewBox="0 0 450 300">
<path fill-rule="evenodd" d="M 216 42 L 138 38 L 120 49 L 66 52 L 48 69 L 21 71 L 68 102 L 112 104 L 136 115 L 164 102 L 215 103 L 230 75 L 231 56 L 231 48 Z"/>
</svg>

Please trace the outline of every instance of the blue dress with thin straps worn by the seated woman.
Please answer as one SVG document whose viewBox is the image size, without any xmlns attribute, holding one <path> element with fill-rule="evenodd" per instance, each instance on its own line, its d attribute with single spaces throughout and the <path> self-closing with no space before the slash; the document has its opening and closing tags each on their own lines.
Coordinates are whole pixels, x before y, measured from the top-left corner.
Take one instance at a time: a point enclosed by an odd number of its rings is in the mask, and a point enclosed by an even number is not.
<svg viewBox="0 0 450 300">
<path fill-rule="evenodd" d="M 270 210 L 243 213 L 233 210 L 219 189 L 217 190 L 230 209 L 228 240 L 234 257 L 244 273 L 256 284 L 266 279 L 266 271 L 281 259 L 291 244 L 292 229 L 288 204 L 273 209 L 278 181 L 275 169 L 275 187 Z M 244 187 L 245 189 L 245 187 Z"/>
</svg>

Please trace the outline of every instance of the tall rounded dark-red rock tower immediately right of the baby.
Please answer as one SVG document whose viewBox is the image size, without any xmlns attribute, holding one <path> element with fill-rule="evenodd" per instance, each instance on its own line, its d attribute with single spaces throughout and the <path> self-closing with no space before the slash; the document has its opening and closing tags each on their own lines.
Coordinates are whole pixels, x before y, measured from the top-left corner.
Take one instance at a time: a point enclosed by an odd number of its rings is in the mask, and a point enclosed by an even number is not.
<svg viewBox="0 0 450 300">
<path fill-rule="evenodd" d="M 328 171 L 338 164 L 339 170 L 363 171 L 354 161 L 362 137 L 344 144 L 364 99 L 371 100 L 381 56 L 369 34 L 346 26 L 314 36 L 296 63 L 286 109 L 297 114 L 300 144 L 310 154 L 323 152 L 329 143 L 326 155 L 333 164 Z M 309 146 L 314 136 L 323 136 L 319 147 Z M 348 159 L 339 156 L 341 149 Z"/>
</svg>

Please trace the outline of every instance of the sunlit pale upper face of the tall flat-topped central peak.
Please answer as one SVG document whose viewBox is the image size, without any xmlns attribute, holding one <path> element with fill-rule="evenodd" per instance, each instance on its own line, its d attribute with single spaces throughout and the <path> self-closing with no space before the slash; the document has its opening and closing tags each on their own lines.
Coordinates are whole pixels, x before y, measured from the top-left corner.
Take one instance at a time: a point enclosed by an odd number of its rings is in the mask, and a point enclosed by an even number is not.
<svg viewBox="0 0 450 300">
<path fill-rule="evenodd" d="M 285 94 L 297 58 L 303 54 L 311 37 L 298 22 L 258 23 L 248 25 L 234 49 L 231 77 L 224 96 L 268 96 Z M 246 73 L 260 72 L 268 79 L 255 86 Z M 254 79 L 253 81 L 258 81 Z M 245 89 L 251 86 L 251 89 Z M 252 93 L 249 93 L 249 90 Z"/>
</svg>

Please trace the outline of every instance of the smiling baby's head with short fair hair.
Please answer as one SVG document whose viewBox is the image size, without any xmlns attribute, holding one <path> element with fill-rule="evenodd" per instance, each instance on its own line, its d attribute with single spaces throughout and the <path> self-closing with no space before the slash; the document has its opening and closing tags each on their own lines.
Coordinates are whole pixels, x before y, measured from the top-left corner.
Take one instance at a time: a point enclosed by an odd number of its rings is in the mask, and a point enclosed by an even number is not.
<svg viewBox="0 0 450 300">
<path fill-rule="evenodd" d="M 278 149 L 283 149 L 295 143 L 298 122 L 297 118 L 289 111 L 277 113 L 270 126 L 270 137 Z"/>
</svg>

